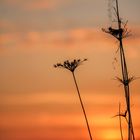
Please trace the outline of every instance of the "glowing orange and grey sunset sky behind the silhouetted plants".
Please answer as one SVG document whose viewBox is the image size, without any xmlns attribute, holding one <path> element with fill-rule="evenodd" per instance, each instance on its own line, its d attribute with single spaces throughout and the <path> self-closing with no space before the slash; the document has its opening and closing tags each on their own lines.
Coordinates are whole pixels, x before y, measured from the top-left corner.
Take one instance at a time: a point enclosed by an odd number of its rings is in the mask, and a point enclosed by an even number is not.
<svg viewBox="0 0 140 140">
<path fill-rule="evenodd" d="M 129 75 L 140 77 L 140 0 L 119 4 Z M 72 75 L 53 67 L 75 58 L 88 59 L 75 75 L 94 140 L 121 139 L 118 42 L 101 30 L 111 25 L 108 0 L 0 0 L 0 140 L 89 140 Z M 140 140 L 140 79 L 130 87 Z"/>
</svg>

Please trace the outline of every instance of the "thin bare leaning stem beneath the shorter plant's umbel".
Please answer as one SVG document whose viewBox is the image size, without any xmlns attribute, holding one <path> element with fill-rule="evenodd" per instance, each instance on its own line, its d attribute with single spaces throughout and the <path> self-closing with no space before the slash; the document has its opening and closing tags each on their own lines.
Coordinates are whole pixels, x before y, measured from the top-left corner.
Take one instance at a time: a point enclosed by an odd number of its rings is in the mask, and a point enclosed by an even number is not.
<svg viewBox="0 0 140 140">
<path fill-rule="evenodd" d="M 82 102 L 82 98 L 81 98 L 81 95 L 80 95 L 80 91 L 79 91 L 79 88 L 78 88 L 78 84 L 77 84 L 74 72 L 72 72 L 72 75 L 73 75 L 74 83 L 75 83 L 75 86 L 76 86 L 76 89 L 77 89 L 78 97 L 79 97 L 79 100 L 80 100 L 80 103 L 81 103 L 81 107 L 82 107 L 82 110 L 83 110 L 83 113 L 84 113 L 84 117 L 85 117 L 85 120 L 86 120 L 89 137 L 90 137 L 90 140 L 93 140 L 92 135 L 91 135 L 91 131 L 90 131 L 90 127 L 89 127 L 89 123 L 88 123 L 88 119 L 87 119 L 87 115 L 86 115 L 86 111 L 85 111 L 85 108 L 84 108 L 84 105 L 83 105 L 83 102 Z"/>
</svg>

